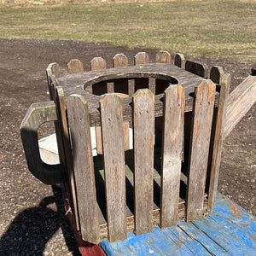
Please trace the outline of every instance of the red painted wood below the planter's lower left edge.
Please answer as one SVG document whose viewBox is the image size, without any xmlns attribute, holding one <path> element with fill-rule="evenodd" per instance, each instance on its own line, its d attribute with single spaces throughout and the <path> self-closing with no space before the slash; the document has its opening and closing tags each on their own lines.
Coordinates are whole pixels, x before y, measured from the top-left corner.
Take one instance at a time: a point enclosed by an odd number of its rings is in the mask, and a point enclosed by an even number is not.
<svg viewBox="0 0 256 256">
<path fill-rule="evenodd" d="M 64 201 L 65 211 L 67 212 L 67 218 L 72 227 L 73 235 L 75 236 L 75 239 L 77 241 L 80 253 L 84 256 L 107 256 L 102 250 L 102 247 L 99 247 L 98 245 L 90 243 L 88 241 L 84 241 L 82 239 L 81 234 L 76 228 L 73 214 L 71 212 L 68 212 L 69 204 L 67 202 L 67 197 L 64 194 L 63 194 L 63 201 Z"/>
</svg>

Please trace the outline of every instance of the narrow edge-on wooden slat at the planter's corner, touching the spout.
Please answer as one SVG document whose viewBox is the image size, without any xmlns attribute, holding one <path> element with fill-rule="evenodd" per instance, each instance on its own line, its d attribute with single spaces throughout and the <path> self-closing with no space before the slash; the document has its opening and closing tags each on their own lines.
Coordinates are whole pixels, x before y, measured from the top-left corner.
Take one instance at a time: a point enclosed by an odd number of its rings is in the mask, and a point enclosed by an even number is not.
<svg viewBox="0 0 256 256">
<path fill-rule="evenodd" d="M 218 186 L 218 173 L 221 160 L 221 148 L 224 140 L 224 125 L 226 117 L 226 108 L 228 103 L 228 96 L 230 91 L 230 74 L 225 74 L 222 79 L 219 103 L 218 103 L 218 114 L 215 126 L 215 134 L 213 138 L 212 155 L 209 156 L 210 164 L 210 183 L 208 192 L 208 207 L 209 211 L 213 211 L 214 201 L 217 193 Z"/>
</svg>

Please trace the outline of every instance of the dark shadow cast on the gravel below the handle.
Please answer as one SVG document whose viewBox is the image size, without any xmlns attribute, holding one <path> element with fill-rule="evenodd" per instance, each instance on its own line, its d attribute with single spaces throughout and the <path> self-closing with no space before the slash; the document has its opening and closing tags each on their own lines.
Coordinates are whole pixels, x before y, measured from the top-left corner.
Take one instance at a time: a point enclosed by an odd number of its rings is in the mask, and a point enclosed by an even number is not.
<svg viewBox="0 0 256 256">
<path fill-rule="evenodd" d="M 0 238 L 0 255 L 44 255 L 50 238 L 61 228 L 66 245 L 73 255 L 80 255 L 62 203 L 61 189 L 52 187 L 54 195 L 45 197 L 38 207 L 31 207 L 9 225 Z M 55 203 L 57 212 L 48 206 Z"/>
</svg>

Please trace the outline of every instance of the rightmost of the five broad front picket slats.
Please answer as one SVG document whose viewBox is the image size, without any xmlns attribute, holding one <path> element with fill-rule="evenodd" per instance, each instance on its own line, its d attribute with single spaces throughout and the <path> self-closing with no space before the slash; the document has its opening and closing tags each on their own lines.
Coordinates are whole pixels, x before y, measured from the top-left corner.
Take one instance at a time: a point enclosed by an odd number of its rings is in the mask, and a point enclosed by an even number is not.
<svg viewBox="0 0 256 256">
<path fill-rule="evenodd" d="M 186 201 L 187 221 L 201 218 L 207 177 L 215 84 L 203 81 L 195 87 L 192 134 L 189 150 L 189 178 Z"/>
</svg>

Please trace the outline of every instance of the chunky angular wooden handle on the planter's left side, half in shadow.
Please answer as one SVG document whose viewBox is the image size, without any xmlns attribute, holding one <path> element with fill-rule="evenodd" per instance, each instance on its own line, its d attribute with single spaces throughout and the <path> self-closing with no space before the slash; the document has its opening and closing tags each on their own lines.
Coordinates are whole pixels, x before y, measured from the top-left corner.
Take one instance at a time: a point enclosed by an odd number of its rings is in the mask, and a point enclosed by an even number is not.
<svg viewBox="0 0 256 256">
<path fill-rule="evenodd" d="M 20 125 L 20 135 L 30 172 L 45 184 L 64 183 L 66 179 L 61 164 L 48 165 L 41 160 L 38 146 L 38 128 L 46 122 L 56 121 L 54 102 L 33 103 Z"/>
</svg>

